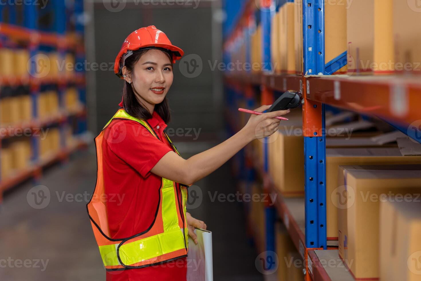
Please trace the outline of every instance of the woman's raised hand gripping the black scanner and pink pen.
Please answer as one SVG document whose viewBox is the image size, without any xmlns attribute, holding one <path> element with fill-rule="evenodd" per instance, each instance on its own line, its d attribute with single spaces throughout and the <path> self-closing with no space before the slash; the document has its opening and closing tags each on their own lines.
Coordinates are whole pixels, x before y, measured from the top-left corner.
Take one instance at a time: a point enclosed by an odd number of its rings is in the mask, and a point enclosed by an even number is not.
<svg viewBox="0 0 421 281">
<path fill-rule="evenodd" d="M 264 112 L 265 110 L 269 109 L 271 105 L 272 104 L 262 105 L 261 107 L 256 108 L 254 111 Z M 263 139 L 264 137 L 270 136 L 278 130 L 278 126 L 281 120 L 275 119 L 274 117 L 285 115 L 288 112 L 290 112 L 290 110 L 266 112 L 261 115 L 252 114 L 242 130 L 246 131 L 251 139 Z"/>
</svg>

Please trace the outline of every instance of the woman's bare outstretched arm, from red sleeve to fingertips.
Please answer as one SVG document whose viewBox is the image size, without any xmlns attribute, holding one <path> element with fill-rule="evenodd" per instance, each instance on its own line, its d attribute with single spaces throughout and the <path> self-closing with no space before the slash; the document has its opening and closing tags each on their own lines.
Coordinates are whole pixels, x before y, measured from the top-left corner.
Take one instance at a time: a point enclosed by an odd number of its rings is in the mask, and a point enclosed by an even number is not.
<svg viewBox="0 0 421 281">
<path fill-rule="evenodd" d="M 269 107 L 270 105 L 263 105 L 256 108 L 255 111 L 263 112 Z M 156 163 L 151 172 L 166 179 L 192 185 L 221 167 L 252 140 L 272 135 L 277 131 L 280 123 L 280 120 L 274 119 L 274 117 L 285 115 L 288 112 L 280 110 L 251 115 L 244 128 L 219 145 L 193 155 L 189 159 L 181 158 L 170 151 Z"/>
</svg>

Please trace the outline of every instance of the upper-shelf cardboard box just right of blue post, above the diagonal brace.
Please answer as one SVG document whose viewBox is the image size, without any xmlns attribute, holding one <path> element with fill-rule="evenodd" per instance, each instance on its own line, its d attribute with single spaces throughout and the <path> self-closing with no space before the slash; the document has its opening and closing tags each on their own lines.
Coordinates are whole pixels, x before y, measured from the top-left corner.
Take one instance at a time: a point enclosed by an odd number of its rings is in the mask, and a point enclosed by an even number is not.
<svg viewBox="0 0 421 281">
<path fill-rule="evenodd" d="M 347 1 L 325 1 L 325 64 L 346 51 L 347 5 Z M 338 70 L 345 71 L 346 66 Z"/>
</svg>

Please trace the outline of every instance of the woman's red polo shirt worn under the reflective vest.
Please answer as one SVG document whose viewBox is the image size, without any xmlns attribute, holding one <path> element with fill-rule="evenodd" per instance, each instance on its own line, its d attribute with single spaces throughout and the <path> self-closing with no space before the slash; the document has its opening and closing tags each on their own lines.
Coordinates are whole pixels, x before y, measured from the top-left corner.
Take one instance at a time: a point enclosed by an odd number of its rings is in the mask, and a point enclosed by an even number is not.
<svg viewBox="0 0 421 281">
<path fill-rule="evenodd" d="M 167 125 L 155 111 L 147 122 L 160 139 L 132 120 L 112 120 L 104 131 L 104 186 L 109 198 L 107 211 L 111 238 L 141 233 L 155 218 L 161 177 L 150 170 L 172 148 L 163 135 Z M 185 281 L 185 260 L 181 258 L 162 265 L 107 272 L 107 281 Z"/>
</svg>

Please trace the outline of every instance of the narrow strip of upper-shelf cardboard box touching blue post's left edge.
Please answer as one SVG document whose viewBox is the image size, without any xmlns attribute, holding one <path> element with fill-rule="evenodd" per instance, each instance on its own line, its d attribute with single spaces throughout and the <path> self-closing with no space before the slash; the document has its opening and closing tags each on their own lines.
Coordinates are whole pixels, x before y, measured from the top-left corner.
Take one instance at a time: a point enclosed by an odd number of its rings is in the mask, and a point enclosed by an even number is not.
<svg viewBox="0 0 421 281">
<path fill-rule="evenodd" d="M 294 53 L 296 74 L 303 74 L 303 5 L 294 0 Z"/>
</svg>

